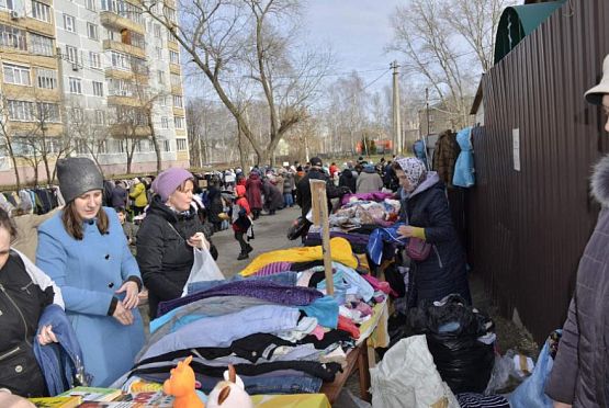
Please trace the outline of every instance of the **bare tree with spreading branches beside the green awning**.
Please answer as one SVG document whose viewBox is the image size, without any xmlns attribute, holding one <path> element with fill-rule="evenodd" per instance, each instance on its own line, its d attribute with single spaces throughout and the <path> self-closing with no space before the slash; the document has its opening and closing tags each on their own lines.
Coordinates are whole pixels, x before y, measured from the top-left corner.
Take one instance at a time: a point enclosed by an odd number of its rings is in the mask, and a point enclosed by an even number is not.
<svg viewBox="0 0 609 408">
<path fill-rule="evenodd" d="M 424 81 L 455 126 L 467 123 L 480 75 L 492 66 L 503 9 L 515 0 L 408 0 L 392 15 L 390 50 L 404 55 L 406 76 Z"/>
</svg>

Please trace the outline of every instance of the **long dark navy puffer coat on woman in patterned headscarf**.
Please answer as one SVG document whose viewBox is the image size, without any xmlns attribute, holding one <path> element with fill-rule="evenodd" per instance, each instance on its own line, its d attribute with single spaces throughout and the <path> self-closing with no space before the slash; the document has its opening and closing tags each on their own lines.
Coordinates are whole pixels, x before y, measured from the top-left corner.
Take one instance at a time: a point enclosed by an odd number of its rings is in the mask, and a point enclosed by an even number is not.
<svg viewBox="0 0 609 408">
<path fill-rule="evenodd" d="M 435 172 L 405 201 L 402 220 L 425 228 L 426 241 L 432 245 L 425 261 L 413 261 L 409 282 L 409 305 L 421 301 L 440 301 L 452 293 L 472 302 L 465 252 L 454 230 L 444 184 Z"/>
</svg>

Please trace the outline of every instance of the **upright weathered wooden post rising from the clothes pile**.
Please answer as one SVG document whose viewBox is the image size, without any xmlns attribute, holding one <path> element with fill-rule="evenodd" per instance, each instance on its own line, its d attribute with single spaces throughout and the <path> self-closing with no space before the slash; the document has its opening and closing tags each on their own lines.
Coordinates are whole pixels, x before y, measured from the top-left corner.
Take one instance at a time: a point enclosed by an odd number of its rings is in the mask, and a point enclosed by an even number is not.
<svg viewBox="0 0 609 408">
<path fill-rule="evenodd" d="M 313 224 L 322 227 L 322 253 L 324 254 L 324 269 L 326 271 L 326 292 L 331 296 L 334 295 L 334 275 L 326 182 L 324 180 L 309 180 L 308 182 L 311 185 Z"/>
</svg>

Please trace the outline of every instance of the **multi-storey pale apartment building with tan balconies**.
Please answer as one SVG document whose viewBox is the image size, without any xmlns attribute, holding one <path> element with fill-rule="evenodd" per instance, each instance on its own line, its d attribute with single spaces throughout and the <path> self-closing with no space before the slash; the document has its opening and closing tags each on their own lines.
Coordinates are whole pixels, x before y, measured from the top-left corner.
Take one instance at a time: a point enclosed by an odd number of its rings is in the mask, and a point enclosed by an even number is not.
<svg viewBox="0 0 609 408">
<path fill-rule="evenodd" d="M 125 173 L 133 152 L 131 172 L 154 172 L 151 135 L 163 168 L 189 166 L 179 46 L 136 4 L 0 0 L 1 106 L 22 179 L 33 178 L 40 149 L 90 156 L 105 174 Z M 5 185 L 14 168 L 4 156 Z"/>
</svg>

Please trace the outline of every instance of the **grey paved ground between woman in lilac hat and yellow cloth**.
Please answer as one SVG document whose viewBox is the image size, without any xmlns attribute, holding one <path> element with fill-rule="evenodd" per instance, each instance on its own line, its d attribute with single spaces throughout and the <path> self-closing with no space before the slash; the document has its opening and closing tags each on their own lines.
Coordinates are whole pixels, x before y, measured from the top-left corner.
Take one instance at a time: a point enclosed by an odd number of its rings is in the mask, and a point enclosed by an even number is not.
<svg viewBox="0 0 609 408">
<path fill-rule="evenodd" d="M 233 235 L 232 228 L 214 234 L 212 240 L 218 250 L 216 262 L 224 275 L 227 277 L 233 276 L 245 269 L 249 261 L 260 253 L 300 246 L 300 239 L 290 241 L 285 237 L 292 222 L 300 215 L 300 207 L 281 209 L 275 215 L 261 215 L 253 223 L 256 239 L 249 242 L 253 247 L 253 252 L 249 254 L 249 259 L 243 261 L 237 261 L 240 248 Z"/>
</svg>

